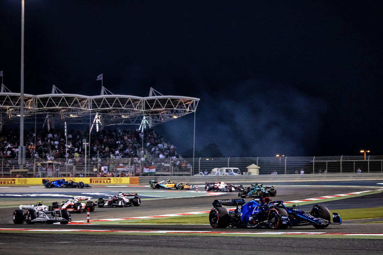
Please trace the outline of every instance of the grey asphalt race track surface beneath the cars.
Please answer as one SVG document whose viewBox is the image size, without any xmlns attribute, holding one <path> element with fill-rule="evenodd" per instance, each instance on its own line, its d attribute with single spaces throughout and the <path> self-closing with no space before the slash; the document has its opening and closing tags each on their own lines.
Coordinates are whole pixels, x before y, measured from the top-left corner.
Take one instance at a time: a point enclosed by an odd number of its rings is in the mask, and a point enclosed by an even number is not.
<svg viewBox="0 0 383 255">
<path fill-rule="evenodd" d="M 345 183 L 323 183 L 322 185 L 305 186 L 301 183 L 291 183 L 294 185 L 275 185 L 277 197 L 274 200 L 291 201 L 319 196 L 336 195 L 355 191 L 373 190 L 373 187 L 383 188 L 383 181 L 352 183 L 353 186 L 338 186 Z M 290 184 L 290 183 L 289 183 Z M 312 183 L 310 183 L 312 184 Z M 347 183 L 349 184 L 349 183 Z M 350 185 L 350 184 L 349 184 Z M 365 187 L 364 187 L 365 186 Z M 203 187 L 200 187 L 202 190 Z M 164 191 L 151 190 L 149 187 L 93 187 L 81 190 L 80 193 L 93 197 L 96 201 L 101 194 L 114 195 L 118 191 L 138 193 L 143 199 L 141 206 L 125 208 L 96 208 L 91 212 L 92 219 L 125 218 L 139 216 L 154 216 L 173 213 L 187 213 L 195 211 L 209 211 L 212 208 L 214 199 L 237 198 L 237 193 L 205 193 L 199 192 L 198 195 L 211 194 L 213 196 L 195 196 L 195 191 Z M 52 189 L 45 188 L 5 188 L 0 187 L 0 201 L 2 203 L 18 203 L 24 199 L 33 204 L 36 201 L 62 201 L 65 196 L 79 195 L 79 190 Z M 62 197 L 44 196 L 44 194 L 61 194 Z M 92 193 L 92 194 L 88 194 Z M 99 194 L 97 194 L 99 193 Z M 15 195 L 29 194 L 25 196 Z M 13 195 L 13 196 L 4 196 Z M 172 198 L 180 196 L 179 198 Z M 106 197 L 106 196 L 104 196 Z M 53 199 L 53 200 L 52 200 Z M 56 200 L 54 200 L 56 199 Z M 248 201 L 249 198 L 246 199 Z M 5 201 L 5 202 L 4 202 Z M 336 201 L 321 203 L 330 210 L 347 208 L 368 208 L 381 206 L 382 193 L 375 195 L 359 196 L 355 198 L 345 198 Z M 21 203 L 20 203 L 21 204 Z M 311 205 L 304 205 L 300 209 L 310 210 Z M 12 221 L 12 213 L 15 207 L 0 208 L 0 228 L 31 228 L 31 225 L 15 225 Z M 72 221 L 82 221 L 86 219 L 86 213 L 72 214 Z M 208 223 L 206 225 L 139 225 L 139 224 L 116 224 L 116 225 L 47 225 L 34 224 L 34 229 L 114 229 L 114 230 L 175 230 L 175 231 L 212 231 Z M 241 229 L 224 229 L 226 232 L 240 232 Z M 246 231 L 265 231 L 265 229 L 246 229 Z M 268 232 L 273 230 L 267 229 Z M 383 224 L 347 224 L 330 225 L 325 230 L 314 229 L 311 226 L 296 227 L 289 229 L 289 232 L 349 232 L 349 233 L 382 233 Z M 64 251 L 65 253 L 94 254 L 115 254 L 129 252 L 131 254 L 201 254 L 201 253 L 221 253 L 221 254 L 254 254 L 254 252 L 267 252 L 270 254 L 348 254 L 356 252 L 361 254 L 382 254 L 383 241 L 381 239 L 349 239 L 349 238 L 300 238 L 300 237 L 243 237 L 222 236 L 222 235 L 177 235 L 161 234 L 146 235 L 137 234 L 41 234 L 33 232 L 11 232 L 0 233 L 0 254 L 37 254 Z"/>
</svg>

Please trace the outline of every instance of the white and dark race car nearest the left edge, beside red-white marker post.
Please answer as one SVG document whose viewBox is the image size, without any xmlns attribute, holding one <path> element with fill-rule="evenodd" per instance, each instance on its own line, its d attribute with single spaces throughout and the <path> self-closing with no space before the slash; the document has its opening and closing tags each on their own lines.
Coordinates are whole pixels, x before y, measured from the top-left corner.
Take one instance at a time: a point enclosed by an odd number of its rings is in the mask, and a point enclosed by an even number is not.
<svg viewBox="0 0 383 255">
<path fill-rule="evenodd" d="M 50 206 L 44 206 L 41 201 L 36 205 L 20 205 L 19 210 L 13 212 L 13 223 L 15 224 L 68 224 L 71 221 L 67 210 L 61 209 L 58 212 L 50 210 Z M 26 210 L 26 212 L 24 212 Z M 56 216 L 56 213 L 58 216 Z"/>
</svg>

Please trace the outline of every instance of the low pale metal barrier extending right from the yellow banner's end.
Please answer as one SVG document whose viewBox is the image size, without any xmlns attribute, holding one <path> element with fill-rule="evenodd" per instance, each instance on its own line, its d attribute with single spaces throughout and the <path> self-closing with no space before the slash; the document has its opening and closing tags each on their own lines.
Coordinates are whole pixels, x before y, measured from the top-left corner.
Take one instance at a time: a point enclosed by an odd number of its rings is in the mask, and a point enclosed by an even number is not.
<svg viewBox="0 0 383 255">
<path fill-rule="evenodd" d="M 225 175 L 225 176 L 152 176 L 139 177 L 140 185 L 149 185 L 149 180 L 162 181 L 170 179 L 190 184 L 204 184 L 206 181 L 225 181 L 232 184 L 241 183 L 278 183 L 286 181 L 357 181 L 357 180 L 383 180 L 383 173 L 327 173 L 304 175 Z"/>
</svg>

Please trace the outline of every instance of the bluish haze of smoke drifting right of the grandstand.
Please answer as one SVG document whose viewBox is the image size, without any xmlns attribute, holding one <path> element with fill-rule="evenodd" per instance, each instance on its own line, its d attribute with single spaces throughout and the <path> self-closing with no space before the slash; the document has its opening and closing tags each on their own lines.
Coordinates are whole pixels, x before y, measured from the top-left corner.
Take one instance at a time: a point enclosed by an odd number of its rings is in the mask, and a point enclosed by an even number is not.
<svg viewBox="0 0 383 255">
<path fill-rule="evenodd" d="M 214 96 L 196 113 L 196 149 L 214 142 L 226 157 L 306 156 L 317 142 L 326 104 L 286 85 L 248 80 Z M 192 114 L 161 126 L 179 152 L 193 147 Z"/>
</svg>

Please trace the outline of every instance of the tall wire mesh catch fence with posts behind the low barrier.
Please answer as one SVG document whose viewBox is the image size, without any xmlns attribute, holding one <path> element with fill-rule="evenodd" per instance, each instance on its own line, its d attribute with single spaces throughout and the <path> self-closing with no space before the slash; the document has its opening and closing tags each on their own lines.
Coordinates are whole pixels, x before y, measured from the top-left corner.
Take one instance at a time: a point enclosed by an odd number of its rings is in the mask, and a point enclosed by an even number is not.
<svg viewBox="0 0 383 255">
<path fill-rule="evenodd" d="M 219 167 L 239 168 L 241 173 L 252 173 L 252 168 L 258 167 L 260 175 L 270 175 L 277 172 L 278 175 L 294 175 L 302 169 L 306 174 L 338 174 L 357 173 L 360 168 L 362 173 L 383 173 L 383 156 L 333 156 L 333 157 L 247 157 L 247 158 L 177 158 L 177 159 L 151 159 L 137 162 L 131 158 L 76 158 L 66 162 L 65 159 L 54 159 L 57 162 L 54 166 L 58 169 L 59 175 L 94 176 L 101 172 L 102 167 L 107 167 L 108 172 L 119 173 L 121 166 L 126 167 L 130 176 L 145 174 L 145 167 L 155 167 L 156 175 L 198 175 L 200 172 L 208 171 Z M 41 171 L 47 159 L 27 159 L 28 164 L 18 165 L 17 159 L 0 159 L 0 174 L 2 177 L 9 176 L 11 170 L 18 168 L 28 169 L 28 177 L 35 177 Z M 255 165 L 255 166 L 254 166 Z M 105 169 L 105 168 L 104 168 Z M 253 173 L 254 174 L 254 171 Z"/>
</svg>

